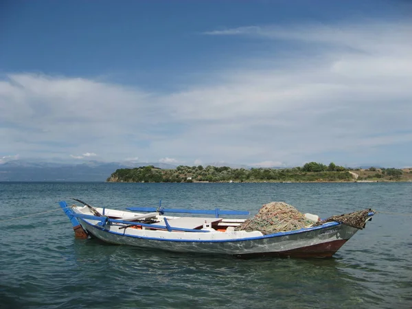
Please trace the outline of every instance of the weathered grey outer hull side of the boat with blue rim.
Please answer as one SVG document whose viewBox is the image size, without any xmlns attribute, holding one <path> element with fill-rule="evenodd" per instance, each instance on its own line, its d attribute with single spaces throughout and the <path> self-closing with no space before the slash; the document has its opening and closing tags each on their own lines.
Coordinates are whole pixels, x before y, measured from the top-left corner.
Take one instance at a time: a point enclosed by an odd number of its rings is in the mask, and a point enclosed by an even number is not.
<svg viewBox="0 0 412 309">
<path fill-rule="evenodd" d="M 330 258 L 349 240 L 358 229 L 345 224 L 331 222 L 312 229 L 302 229 L 251 238 L 202 240 L 171 239 L 168 231 L 159 238 L 133 235 L 117 227 L 102 227 L 89 220 L 80 219 L 80 224 L 88 233 L 111 244 L 161 249 L 181 253 L 211 253 L 235 255 L 239 258 L 256 256 L 281 256 L 295 258 Z M 127 229 L 126 229 L 127 230 Z M 143 233 L 143 232 L 141 232 Z M 175 234 L 175 233 L 174 233 Z M 185 233 L 180 233 L 183 235 Z M 209 233 L 202 233 L 209 234 Z M 216 234 L 216 233 L 215 233 Z M 143 234 L 142 234 L 143 235 Z"/>
</svg>

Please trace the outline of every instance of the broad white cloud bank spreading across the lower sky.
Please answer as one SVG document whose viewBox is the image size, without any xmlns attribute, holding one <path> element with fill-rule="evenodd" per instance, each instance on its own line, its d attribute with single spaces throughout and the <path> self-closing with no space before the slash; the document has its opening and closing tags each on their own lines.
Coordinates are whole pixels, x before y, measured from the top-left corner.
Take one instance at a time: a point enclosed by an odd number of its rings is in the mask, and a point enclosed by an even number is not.
<svg viewBox="0 0 412 309">
<path fill-rule="evenodd" d="M 211 31 L 254 36 L 269 52 L 205 73 L 208 84 L 194 81 L 171 93 L 10 74 L 0 80 L 0 122 L 8 124 L 0 128 L 2 151 L 57 157 L 89 148 L 111 160 L 139 153 L 164 163 L 202 158 L 262 165 L 407 158 L 411 33 L 409 21 Z M 301 48 L 284 44 L 284 52 L 272 54 L 271 46 L 290 41 Z"/>
</svg>

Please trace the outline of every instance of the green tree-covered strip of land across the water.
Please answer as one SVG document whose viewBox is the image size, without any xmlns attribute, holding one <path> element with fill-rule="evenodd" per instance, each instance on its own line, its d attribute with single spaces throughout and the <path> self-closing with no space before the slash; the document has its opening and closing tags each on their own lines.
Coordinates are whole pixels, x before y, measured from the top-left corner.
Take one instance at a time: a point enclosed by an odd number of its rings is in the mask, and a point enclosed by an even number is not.
<svg viewBox="0 0 412 309">
<path fill-rule="evenodd" d="M 357 179 L 355 179 L 356 174 Z M 179 165 L 173 170 L 155 168 L 121 168 L 113 172 L 108 182 L 127 183 L 193 183 L 193 182 L 349 182 L 349 181 L 412 181 L 412 169 L 368 168 L 352 169 L 343 166 L 310 162 L 295 168 L 229 168 Z"/>
</svg>

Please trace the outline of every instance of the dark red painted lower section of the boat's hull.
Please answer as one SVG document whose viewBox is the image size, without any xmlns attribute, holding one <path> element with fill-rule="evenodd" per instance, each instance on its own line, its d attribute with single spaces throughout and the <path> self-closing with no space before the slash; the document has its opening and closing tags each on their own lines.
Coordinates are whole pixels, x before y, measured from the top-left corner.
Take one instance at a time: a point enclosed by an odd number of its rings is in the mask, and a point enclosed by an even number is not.
<svg viewBox="0 0 412 309">
<path fill-rule="evenodd" d="M 236 255 L 236 257 L 253 258 L 256 256 L 279 256 L 284 258 L 332 258 L 332 255 L 334 255 L 346 241 L 346 239 L 333 240 L 332 242 L 323 242 L 322 244 L 313 244 L 312 246 L 292 250 L 239 254 Z"/>
</svg>

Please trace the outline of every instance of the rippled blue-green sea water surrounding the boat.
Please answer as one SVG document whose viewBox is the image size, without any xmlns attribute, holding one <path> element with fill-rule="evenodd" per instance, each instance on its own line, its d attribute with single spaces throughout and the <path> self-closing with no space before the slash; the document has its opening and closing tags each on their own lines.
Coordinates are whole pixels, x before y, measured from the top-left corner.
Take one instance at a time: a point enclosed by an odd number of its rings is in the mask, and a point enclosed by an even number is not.
<svg viewBox="0 0 412 309">
<path fill-rule="evenodd" d="M 76 240 L 58 209 L 72 197 L 115 209 L 162 199 L 382 213 L 329 260 L 238 260 Z M 0 308 L 412 308 L 412 183 L 0 183 L 0 214 Z"/>
</svg>

